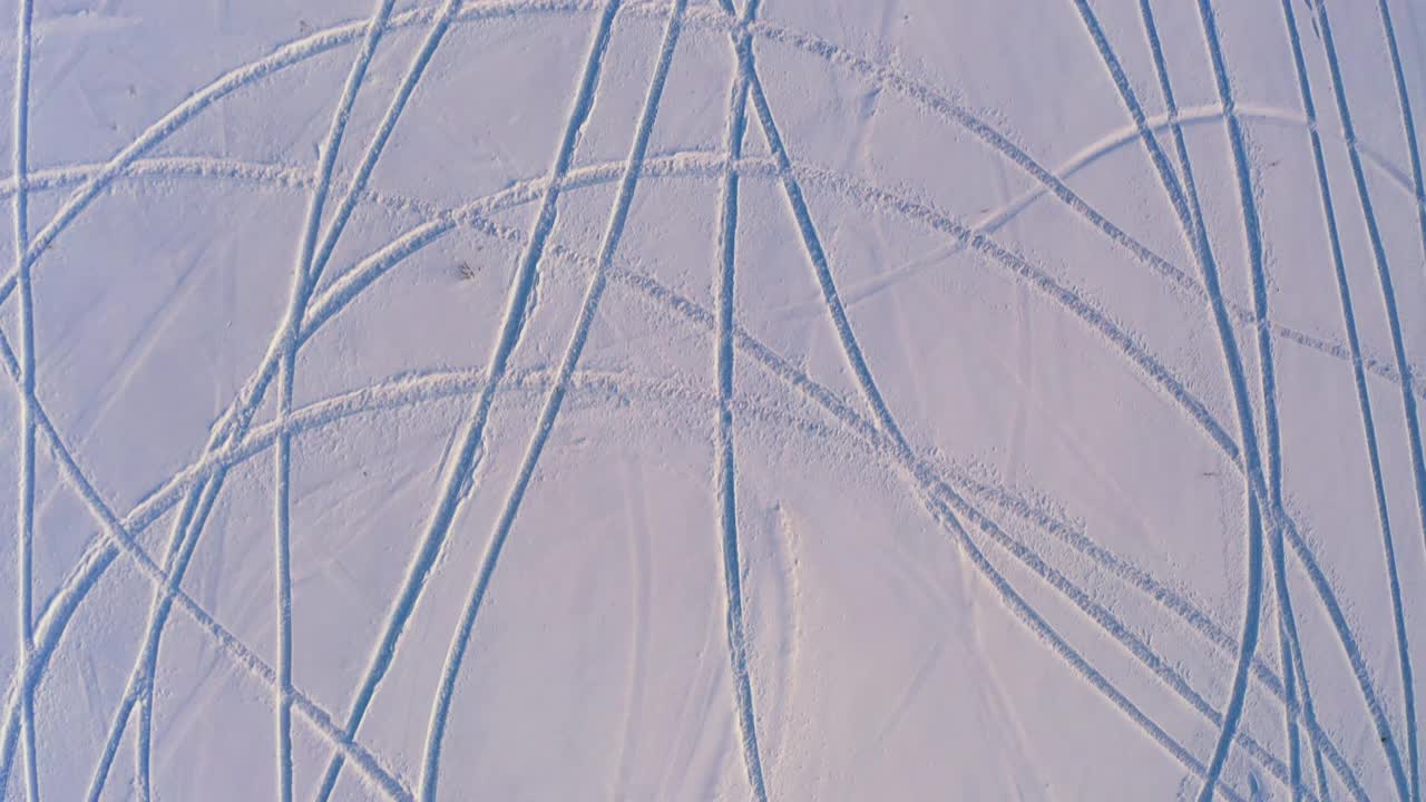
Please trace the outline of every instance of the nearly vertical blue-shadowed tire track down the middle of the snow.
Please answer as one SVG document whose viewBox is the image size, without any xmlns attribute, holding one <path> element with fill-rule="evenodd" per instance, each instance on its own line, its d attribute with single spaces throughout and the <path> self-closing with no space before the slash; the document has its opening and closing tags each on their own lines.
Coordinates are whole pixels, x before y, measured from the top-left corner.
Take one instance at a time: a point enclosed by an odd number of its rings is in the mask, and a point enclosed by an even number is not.
<svg viewBox="0 0 1426 802">
<path fill-rule="evenodd" d="M 733 450 L 733 325 L 737 273 L 737 183 L 733 164 L 743 157 L 743 137 L 747 130 L 747 94 L 750 70 L 743 68 L 742 49 L 747 47 L 747 21 L 756 19 L 759 0 L 744 0 L 739 17 L 740 27 L 733 34 L 733 87 L 729 93 L 727 168 L 723 176 L 723 196 L 719 204 L 719 281 L 716 284 L 717 351 L 714 375 L 719 388 L 717 447 L 714 481 L 723 535 L 723 595 L 727 609 L 727 649 L 733 671 L 733 691 L 737 704 L 739 735 L 743 746 L 743 768 L 753 799 L 767 802 L 767 782 L 757 746 L 757 716 L 753 714 L 753 684 L 747 669 L 747 636 L 743 619 L 743 581 L 737 538 L 737 460 Z M 724 11 L 733 13 L 732 3 Z"/>
</svg>

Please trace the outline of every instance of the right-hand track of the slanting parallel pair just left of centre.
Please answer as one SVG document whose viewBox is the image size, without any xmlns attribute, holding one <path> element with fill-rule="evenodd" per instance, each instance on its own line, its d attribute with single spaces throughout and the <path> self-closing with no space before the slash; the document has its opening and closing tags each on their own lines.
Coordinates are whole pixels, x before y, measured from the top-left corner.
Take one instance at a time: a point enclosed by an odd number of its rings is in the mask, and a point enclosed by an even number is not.
<svg viewBox="0 0 1426 802">
<path fill-rule="evenodd" d="M 511 529 L 515 525 L 515 517 L 519 514 L 525 491 L 529 487 L 536 467 L 539 465 L 539 458 L 549 440 L 549 432 L 555 428 L 555 421 L 559 417 L 560 405 L 563 404 L 565 392 L 569 385 L 569 377 L 579 364 L 579 357 L 583 354 L 585 344 L 589 341 L 589 330 L 599 313 L 599 301 L 607 283 L 607 271 L 613 263 L 615 254 L 619 250 L 619 241 L 623 237 L 625 223 L 629 218 L 629 207 L 633 203 L 633 193 L 639 184 L 639 173 L 643 167 L 643 158 L 649 148 L 649 137 L 653 133 L 653 124 L 659 117 L 659 103 L 663 100 L 663 87 L 669 77 L 669 67 L 673 63 L 673 53 L 679 43 L 679 33 L 683 29 L 683 11 L 687 7 L 687 0 L 673 0 L 670 6 L 669 20 L 663 30 L 663 43 L 659 49 L 659 60 L 655 64 L 653 77 L 649 81 L 643 110 L 639 114 L 639 124 L 635 130 L 633 143 L 629 148 L 629 160 L 625 164 L 623 176 L 619 181 L 619 196 L 610 210 L 609 223 L 605 228 L 603 241 L 599 247 L 599 261 L 595 264 L 593 274 L 589 280 L 589 288 L 585 293 L 585 300 L 579 310 L 579 318 L 575 321 L 575 330 L 570 334 L 569 345 L 560 360 L 559 375 L 555 385 L 545 397 L 545 405 L 540 410 L 539 422 L 536 422 L 529 445 L 526 445 L 525 455 L 520 458 L 519 474 L 511 485 L 509 495 L 506 495 L 503 508 L 501 509 L 501 517 L 491 532 L 485 555 L 481 558 L 479 572 L 471 587 L 471 595 L 466 598 L 465 609 L 461 614 L 461 624 L 451 639 L 446 662 L 441 672 L 441 685 L 431 708 L 431 725 L 426 734 L 421 772 L 421 796 L 429 802 L 435 801 L 436 782 L 439 781 L 441 772 L 441 741 L 445 736 L 445 724 L 451 709 L 451 701 L 455 695 L 455 684 L 459 678 L 461 664 L 465 659 L 465 654 L 471 642 L 471 632 L 475 628 L 475 619 L 481 611 L 481 602 L 485 599 L 485 592 L 491 585 L 491 578 L 495 575 L 501 551 L 503 549 Z M 609 4 L 610 21 L 616 10 L 617 0 Z M 597 61 L 593 63 L 596 64 L 595 70 L 597 70 Z"/>
</svg>

